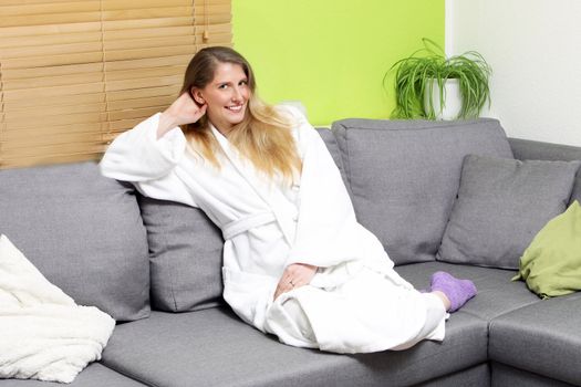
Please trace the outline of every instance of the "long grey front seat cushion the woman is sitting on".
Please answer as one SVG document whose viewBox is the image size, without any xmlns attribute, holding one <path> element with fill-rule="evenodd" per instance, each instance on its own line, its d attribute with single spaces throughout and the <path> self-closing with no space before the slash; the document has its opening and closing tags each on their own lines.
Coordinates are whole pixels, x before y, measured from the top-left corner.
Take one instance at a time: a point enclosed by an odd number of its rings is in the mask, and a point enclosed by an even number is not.
<svg viewBox="0 0 581 387">
<path fill-rule="evenodd" d="M 172 314 L 117 326 L 103 354 L 108 367 L 155 386 L 413 385 L 485 363 L 487 323 L 457 313 L 443 343 L 404 352 L 338 355 L 280 344 L 229 308 Z M 445 356 L 444 356 L 445 355 Z"/>
</svg>

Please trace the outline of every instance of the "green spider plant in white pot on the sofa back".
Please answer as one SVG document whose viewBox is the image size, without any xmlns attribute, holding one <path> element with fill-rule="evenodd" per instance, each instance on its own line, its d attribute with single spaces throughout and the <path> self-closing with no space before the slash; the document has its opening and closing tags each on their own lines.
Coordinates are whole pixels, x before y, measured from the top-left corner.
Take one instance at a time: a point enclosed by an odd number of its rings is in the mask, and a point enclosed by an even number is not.
<svg viewBox="0 0 581 387">
<path fill-rule="evenodd" d="M 491 69 L 483 55 L 468 51 L 446 57 L 444 50 L 424 38 L 424 48 L 397 62 L 394 118 L 454 119 L 477 117 L 490 104 Z M 459 98 L 459 101 L 455 101 Z"/>
</svg>

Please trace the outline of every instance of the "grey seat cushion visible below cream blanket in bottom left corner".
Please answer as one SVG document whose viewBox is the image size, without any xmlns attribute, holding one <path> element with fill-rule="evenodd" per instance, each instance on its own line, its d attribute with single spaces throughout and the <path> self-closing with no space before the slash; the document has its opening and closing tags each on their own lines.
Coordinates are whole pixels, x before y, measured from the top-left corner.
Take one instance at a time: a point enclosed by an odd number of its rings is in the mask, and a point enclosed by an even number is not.
<svg viewBox="0 0 581 387">
<path fill-rule="evenodd" d="M 142 383 L 131 379 L 116 373 L 101 363 L 92 363 L 79 374 L 71 384 L 21 380 L 21 379 L 0 379 L 0 387 L 143 387 Z"/>
</svg>

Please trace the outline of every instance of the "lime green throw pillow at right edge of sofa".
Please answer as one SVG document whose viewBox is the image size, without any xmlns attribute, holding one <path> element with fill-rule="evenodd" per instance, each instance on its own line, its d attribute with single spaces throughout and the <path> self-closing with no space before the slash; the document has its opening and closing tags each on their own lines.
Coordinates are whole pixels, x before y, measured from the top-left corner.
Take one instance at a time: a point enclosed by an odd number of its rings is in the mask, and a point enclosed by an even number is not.
<svg viewBox="0 0 581 387">
<path fill-rule="evenodd" d="M 537 233 L 520 258 L 519 274 L 542 299 L 581 290 L 581 206 L 575 200 Z"/>
</svg>

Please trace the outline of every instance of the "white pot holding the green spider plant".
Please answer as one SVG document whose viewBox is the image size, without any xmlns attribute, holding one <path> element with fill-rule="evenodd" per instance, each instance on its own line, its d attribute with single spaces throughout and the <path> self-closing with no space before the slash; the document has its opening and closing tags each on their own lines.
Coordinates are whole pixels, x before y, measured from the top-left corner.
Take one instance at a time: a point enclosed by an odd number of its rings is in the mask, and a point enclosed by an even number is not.
<svg viewBox="0 0 581 387">
<path fill-rule="evenodd" d="M 432 87 L 432 84 L 434 85 Z M 461 109 L 460 83 L 458 80 L 446 80 L 444 82 L 444 101 L 439 101 L 439 86 L 433 80 L 428 82 L 424 91 L 424 108 L 429 111 L 429 95 L 434 105 L 436 119 L 456 119 Z"/>
</svg>

